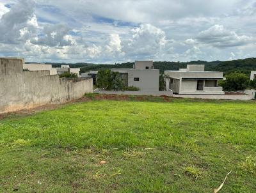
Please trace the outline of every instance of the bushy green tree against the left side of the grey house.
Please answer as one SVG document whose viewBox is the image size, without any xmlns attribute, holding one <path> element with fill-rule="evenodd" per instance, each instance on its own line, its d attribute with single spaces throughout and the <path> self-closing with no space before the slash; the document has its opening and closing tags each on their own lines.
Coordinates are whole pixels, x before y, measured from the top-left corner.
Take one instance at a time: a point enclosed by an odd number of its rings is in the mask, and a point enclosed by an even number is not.
<svg viewBox="0 0 256 193">
<path fill-rule="evenodd" d="M 111 88 L 111 71 L 109 69 L 100 69 L 97 73 L 97 87 L 100 89 Z"/>
</svg>

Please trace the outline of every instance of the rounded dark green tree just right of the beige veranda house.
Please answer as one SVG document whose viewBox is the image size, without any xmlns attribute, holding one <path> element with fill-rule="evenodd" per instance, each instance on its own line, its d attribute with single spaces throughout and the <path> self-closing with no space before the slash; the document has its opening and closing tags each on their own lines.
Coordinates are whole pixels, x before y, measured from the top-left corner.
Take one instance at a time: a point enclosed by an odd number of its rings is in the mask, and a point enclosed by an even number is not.
<svg viewBox="0 0 256 193">
<path fill-rule="evenodd" d="M 225 91 L 241 91 L 249 86 L 249 77 L 241 72 L 232 72 L 226 76 L 225 81 L 220 81 L 219 85 Z"/>
</svg>

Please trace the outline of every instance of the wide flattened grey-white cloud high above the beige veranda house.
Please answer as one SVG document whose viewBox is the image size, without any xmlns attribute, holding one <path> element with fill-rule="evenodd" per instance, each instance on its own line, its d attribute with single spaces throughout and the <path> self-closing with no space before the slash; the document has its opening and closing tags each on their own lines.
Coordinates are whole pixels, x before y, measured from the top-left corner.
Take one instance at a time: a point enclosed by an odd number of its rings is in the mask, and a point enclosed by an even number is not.
<svg viewBox="0 0 256 193">
<path fill-rule="evenodd" d="M 239 47 L 252 43 L 253 38 L 246 35 L 237 35 L 235 31 L 229 31 L 222 25 L 214 25 L 205 31 L 201 31 L 196 39 L 214 47 Z"/>
</svg>

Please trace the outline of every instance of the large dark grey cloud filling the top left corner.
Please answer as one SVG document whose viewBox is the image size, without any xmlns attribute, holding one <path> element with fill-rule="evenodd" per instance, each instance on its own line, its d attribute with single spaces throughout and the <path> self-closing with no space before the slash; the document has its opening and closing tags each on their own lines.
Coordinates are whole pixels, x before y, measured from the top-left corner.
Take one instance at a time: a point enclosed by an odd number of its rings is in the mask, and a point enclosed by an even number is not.
<svg viewBox="0 0 256 193">
<path fill-rule="evenodd" d="M 17 44 L 24 42 L 27 33 L 33 33 L 33 25 L 29 20 L 33 18 L 35 2 L 32 0 L 18 1 L 10 12 L 4 13 L 0 19 L 0 42 Z M 24 29 L 26 28 L 26 29 Z"/>
</svg>

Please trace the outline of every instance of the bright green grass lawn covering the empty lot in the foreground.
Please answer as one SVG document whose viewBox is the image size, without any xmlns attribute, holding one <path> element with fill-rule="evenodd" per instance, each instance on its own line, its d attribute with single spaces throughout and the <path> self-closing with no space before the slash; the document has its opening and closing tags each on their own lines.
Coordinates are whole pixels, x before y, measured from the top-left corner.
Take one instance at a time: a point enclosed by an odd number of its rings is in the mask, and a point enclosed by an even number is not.
<svg viewBox="0 0 256 193">
<path fill-rule="evenodd" d="M 100 164 L 105 161 L 105 164 Z M 256 103 L 93 100 L 0 121 L 0 192 L 256 192 Z"/>
</svg>

